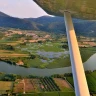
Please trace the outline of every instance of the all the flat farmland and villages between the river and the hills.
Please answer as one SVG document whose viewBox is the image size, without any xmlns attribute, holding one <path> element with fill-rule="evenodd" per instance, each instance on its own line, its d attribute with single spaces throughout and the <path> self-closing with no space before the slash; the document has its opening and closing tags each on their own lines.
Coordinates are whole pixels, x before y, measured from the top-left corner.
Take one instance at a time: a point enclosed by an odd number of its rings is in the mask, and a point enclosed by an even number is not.
<svg viewBox="0 0 96 96">
<path fill-rule="evenodd" d="M 47 32 L 5 29 L 0 33 L 0 59 L 27 68 L 62 68 L 70 66 L 68 43 L 64 34 L 56 35 Z M 82 61 L 87 61 L 96 48 L 88 45 L 88 37 L 78 37 Z M 86 42 L 83 42 L 84 40 Z M 94 39 L 94 38 L 93 38 Z M 81 40 L 81 41 L 80 41 Z M 91 40 L 92 41 L 92 40 Z M 90 42 L 91 42 L 90 41 Z M 95 41 L 91 42 L 94 43 Z"/>
</svg>

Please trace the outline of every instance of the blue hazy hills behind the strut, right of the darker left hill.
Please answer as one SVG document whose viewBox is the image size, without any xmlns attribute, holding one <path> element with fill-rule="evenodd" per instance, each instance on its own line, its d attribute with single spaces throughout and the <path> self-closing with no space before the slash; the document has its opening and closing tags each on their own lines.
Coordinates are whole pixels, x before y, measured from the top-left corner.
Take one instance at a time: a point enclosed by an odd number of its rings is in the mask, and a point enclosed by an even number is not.
<svg viewBox="0 0 96 96">
<path fill-rule="evenodd" d="M 30 22 L 38 23 L 39 30 L 66 33 L 63 17 L 42 16 L 39 18 L 27 18 Z M 73 19 L 74 27 L 77 35 L 96 36 L 96 21 Z"/>
</svg>

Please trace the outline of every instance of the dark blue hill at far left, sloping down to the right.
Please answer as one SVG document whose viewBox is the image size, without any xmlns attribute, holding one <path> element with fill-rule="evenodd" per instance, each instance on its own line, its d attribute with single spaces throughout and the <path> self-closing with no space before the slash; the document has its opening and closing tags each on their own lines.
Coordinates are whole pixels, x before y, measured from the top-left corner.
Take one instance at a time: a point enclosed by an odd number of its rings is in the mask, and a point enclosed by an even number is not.
<svg viewBox="0 0 96 96">
<path fill-rule="evenodd" d="M 20 28 L 20 29 L 34 29 L 31 22 L 8 16 L 0 12 L 0 27 Z"/>
</svg>

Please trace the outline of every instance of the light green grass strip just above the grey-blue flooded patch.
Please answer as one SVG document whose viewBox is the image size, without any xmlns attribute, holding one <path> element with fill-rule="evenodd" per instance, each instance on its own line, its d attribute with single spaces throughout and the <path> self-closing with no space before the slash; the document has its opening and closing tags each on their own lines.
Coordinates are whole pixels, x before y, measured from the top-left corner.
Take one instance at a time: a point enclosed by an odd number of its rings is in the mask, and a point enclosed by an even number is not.
<svg viewBox="0 0 96 96">
<path fill-rule="evenodd" d="M 60 42 L 44 42 L 44 43 L 27 43 L 25 46 L 21 45 L 20 48 L 27 48 L 27 50 L 37 51 L 43 50 L 46 52 L 61 52 L 62 43 Z"/>
</svg>

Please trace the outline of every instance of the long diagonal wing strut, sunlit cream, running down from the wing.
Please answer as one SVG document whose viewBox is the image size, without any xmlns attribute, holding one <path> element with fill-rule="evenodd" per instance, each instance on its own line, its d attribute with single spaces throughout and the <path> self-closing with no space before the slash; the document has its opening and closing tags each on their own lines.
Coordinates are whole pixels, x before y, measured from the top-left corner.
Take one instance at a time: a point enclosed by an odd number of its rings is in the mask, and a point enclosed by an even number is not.
<svg viewBox="0 0 96 96">
<path fill-rule="evenodd" d="M 90 96 L 70 12 L 64 12 L 64 20 L 70 51 L 75 94 L 76 96 Z"/>
</svg>

